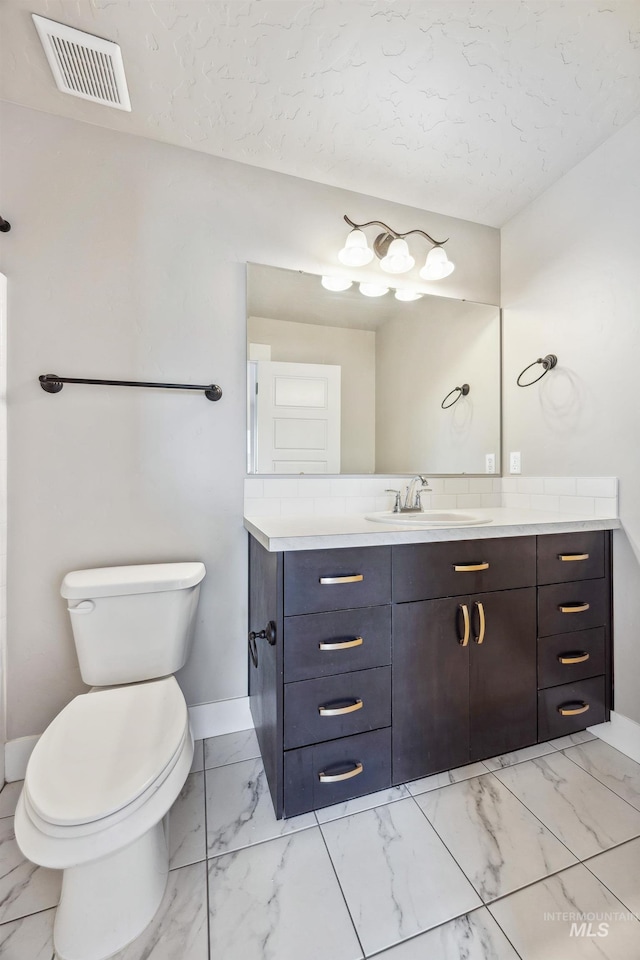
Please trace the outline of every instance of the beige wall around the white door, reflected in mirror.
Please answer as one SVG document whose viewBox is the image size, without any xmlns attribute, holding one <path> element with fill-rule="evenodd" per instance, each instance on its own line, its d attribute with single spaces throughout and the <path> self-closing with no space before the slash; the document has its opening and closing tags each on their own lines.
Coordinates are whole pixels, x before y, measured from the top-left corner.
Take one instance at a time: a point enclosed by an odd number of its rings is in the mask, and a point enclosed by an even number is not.
<svg viewBox="0 0 640 960">
<path fill-rule="evenodd" d="M 340 472 L 375 471 L 376 335 L 373 330 L 249 317 L 249 339 L 271 345 L 271 359 L 341 368 Z"/>
</svg>

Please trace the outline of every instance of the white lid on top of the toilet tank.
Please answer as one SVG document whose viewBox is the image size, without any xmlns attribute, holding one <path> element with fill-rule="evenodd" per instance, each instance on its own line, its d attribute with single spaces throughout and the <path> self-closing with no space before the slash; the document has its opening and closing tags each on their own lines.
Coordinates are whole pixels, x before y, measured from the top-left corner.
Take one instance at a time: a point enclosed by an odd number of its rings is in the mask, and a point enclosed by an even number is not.
<svg viewBox="0 0 640 960">
<path fill-rule="evenodd" d="M 62 581 L 60 593 L 67 600 L 92 597 L 122 597 L 133 593 L 185 590 L 200 583 L 204 563 L 144 563 L 127 567 L 97 567 L 72 570 Z"/>
</svg>

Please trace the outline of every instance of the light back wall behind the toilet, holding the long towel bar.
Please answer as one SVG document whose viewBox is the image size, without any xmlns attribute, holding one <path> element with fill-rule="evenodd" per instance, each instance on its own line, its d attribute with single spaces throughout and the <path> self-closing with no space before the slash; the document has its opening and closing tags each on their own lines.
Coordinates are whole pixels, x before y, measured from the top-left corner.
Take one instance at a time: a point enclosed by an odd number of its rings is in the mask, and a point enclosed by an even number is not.
<svg viewBox="0 0 640 960">
<path fill-rule="evenodd" d="M 190 704 L 246 693 L 245 262 L 326 273 L 344 213 L 450 236 L 432 291 L 497 302 L 499 233 L 3 105 L 9 279 L 8 735 L 83 689 L 68 570 L 207 566 Z M 375 266 L 361 276 L 378 276 Z M 224 396 L 66 386 L 41 373 L 214 381 Z"/>
</svg>

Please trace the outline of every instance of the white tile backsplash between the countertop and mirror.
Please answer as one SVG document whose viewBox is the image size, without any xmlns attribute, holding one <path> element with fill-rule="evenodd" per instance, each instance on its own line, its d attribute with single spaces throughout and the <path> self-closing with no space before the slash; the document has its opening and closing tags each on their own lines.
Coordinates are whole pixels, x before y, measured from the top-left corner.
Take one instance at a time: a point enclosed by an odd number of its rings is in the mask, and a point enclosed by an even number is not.
<svg viewBox="0 0 640 960">
<path fill-rule="evenodd" d="M 391 510 L 410 477 L 250 477 L 244 482 L 248 517 L 336 516 Z M 616 477 L 436 477 L 423 493 L 427 510 L 513 507 L 618 516 Z"/>
</svg>

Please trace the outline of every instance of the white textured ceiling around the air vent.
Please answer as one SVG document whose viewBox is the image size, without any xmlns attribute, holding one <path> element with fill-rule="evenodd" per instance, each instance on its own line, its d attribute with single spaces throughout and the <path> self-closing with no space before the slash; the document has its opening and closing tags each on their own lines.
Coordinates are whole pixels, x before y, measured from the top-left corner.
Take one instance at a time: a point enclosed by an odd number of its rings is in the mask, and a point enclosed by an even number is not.
<svg viewBox="0 0 640 960">
<path fill-rule="evenodd" d="M 58 92 L 30 14 L 117 41 L 131 114 Z M 15 103 L 500 226 L 640 113 L 639 0 L 4 0 Z"/>
</svg>

